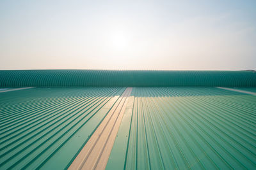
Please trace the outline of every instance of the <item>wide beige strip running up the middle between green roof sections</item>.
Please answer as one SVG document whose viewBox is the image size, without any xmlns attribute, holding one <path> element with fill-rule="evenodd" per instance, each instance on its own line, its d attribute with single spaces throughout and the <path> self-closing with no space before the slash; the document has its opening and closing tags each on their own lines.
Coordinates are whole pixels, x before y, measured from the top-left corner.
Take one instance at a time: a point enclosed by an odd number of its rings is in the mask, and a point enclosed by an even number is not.
<svg viewBox="0 0 256 170">
<path fill-rule="evenodd" d="M 105 169 L 131 92 L 125 89 L 68 169 Z"/>
</svg>

